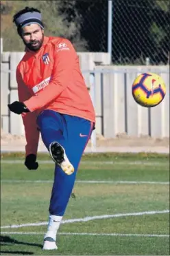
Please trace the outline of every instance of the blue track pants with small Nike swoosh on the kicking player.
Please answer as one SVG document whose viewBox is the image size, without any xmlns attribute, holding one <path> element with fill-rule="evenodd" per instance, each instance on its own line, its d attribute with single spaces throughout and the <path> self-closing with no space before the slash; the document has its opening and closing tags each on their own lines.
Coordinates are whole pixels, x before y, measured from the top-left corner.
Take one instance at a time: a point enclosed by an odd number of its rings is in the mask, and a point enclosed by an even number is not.
<svg viewBox="0 0 170 256">
<path fill-rule="evenodd" d="M 49 213 L 63 216 L 74 186 L 77 168 L 93 131 L 93 122 L 47 109 L 38 116 L 37 125 L 47 149 L 49 150 L 51 142 L 59 142 L 75 169 L 73 174 L 67 175 L 58 165 L 55 167 Z"/>
</svg>

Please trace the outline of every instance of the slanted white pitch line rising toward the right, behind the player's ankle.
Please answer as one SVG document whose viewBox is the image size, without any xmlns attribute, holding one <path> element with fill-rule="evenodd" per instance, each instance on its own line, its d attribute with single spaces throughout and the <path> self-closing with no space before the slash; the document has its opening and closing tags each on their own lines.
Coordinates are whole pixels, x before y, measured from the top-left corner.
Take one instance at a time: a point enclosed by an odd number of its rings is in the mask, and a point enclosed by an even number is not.
<svg viewBox="0 0 170 256">
<path fill-rule="evenodd" d="M 88 222 L 90 220 L 104 220 L 114 217 L 127 217 L 127 216 L 141 216 L 141 215 L 154 215 L 159 213 L 169 213 L 169 210 L 164 211 L 142 211 L 138 213 L 117 213 L 112 215 L 97 215 L 97 216 L 88 216 L 79 219 L 70 219 L 63 220 L 62 224 L 66 223 L 75 223 L 75 222 Z M 21 228 L 23 226 L 45 226 L 48 222 L 39 222 L 39 223 L 27 223 L 27 224 L 19 224 L 19 225 L 11 225 L 11 226 L 1 226 L 1 228 Z"/>
</svg>

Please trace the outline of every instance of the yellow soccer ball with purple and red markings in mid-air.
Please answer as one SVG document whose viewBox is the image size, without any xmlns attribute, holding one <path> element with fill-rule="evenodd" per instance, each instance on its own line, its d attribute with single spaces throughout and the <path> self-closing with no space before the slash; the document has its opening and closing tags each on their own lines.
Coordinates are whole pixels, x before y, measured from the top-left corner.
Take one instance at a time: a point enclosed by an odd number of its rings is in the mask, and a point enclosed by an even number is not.
<svg viewBox="0 0 170 256">
<path fill-rule="evenodd" d="M 158 74 L 140 74 L 132 84 L 132 96 L 143 107 L 155 107 L 161 103 L 165 94 L 165 82 Z"/>
</svg>

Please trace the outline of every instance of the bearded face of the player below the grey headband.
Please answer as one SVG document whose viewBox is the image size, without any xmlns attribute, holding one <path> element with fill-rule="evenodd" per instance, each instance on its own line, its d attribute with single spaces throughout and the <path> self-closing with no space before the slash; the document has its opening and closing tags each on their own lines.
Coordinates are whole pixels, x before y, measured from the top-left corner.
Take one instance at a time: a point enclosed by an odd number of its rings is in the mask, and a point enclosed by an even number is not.
<svg viewBox="0 0 170 256">
<path fill-rule="evenodd" d="M 22 28 L 23 43 L 32 51 L 38 51 L 44 41 L 44 30 L 38 24 L 26 25 Z"/>
</svg>

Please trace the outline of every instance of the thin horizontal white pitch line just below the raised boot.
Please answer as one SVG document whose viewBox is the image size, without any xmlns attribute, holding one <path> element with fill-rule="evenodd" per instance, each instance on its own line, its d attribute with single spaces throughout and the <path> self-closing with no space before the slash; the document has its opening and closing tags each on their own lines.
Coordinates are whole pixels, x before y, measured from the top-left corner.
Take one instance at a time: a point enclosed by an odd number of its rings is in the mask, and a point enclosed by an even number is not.
<svg viewBox="0 0 170 256">
<path fill-rule="evenodd" d="M 52 183 L 53 180 L 1 180 L 2 183 Z M 135 180 L 77 180 L 75 183 L 89 183 L 89 184 L 163 184 L 169 185 L 169 182 L 149 182 L 149 181 L 135 181 Z"/>
</svg>

